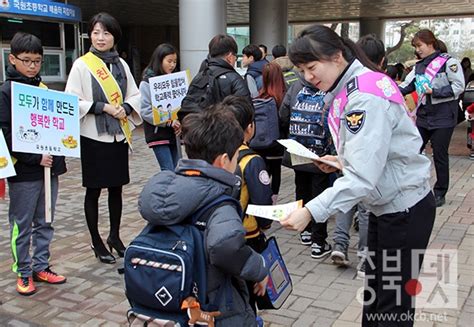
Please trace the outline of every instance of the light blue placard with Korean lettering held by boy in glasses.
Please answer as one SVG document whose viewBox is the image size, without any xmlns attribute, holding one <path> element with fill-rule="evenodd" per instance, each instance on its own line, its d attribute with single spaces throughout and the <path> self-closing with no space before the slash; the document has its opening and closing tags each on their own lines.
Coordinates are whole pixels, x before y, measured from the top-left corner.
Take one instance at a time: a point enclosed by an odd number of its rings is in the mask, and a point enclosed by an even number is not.
<svg viewBox="0 0 474 327">
<path fill-rule="evenodd" d="M 12 83 L 13 151 L 80 157 L 77 96 Z"/>
</svg>

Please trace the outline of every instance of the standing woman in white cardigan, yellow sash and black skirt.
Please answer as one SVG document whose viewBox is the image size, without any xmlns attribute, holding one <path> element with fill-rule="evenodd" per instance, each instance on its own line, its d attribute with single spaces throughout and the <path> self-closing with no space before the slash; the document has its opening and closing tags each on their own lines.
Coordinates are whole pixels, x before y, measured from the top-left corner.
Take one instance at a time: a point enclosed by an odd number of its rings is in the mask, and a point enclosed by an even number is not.
<svg viewBox="0 0 474 327">
<path fill-rule="evenodd" d="M 66 92 L 79 97 L 82 184 L 86 187 L 84 210 L 92 240 L 91 248 L 104 263 L 115 263 L 112 249 L 120 257 L 125 251 L 119 229 L 122 186 L 128 184 L 130 178 L 128 144 L 121 121 L 128 120 L 130 130 L 142 123 L 139 90 L 130 68 L 115 49 L 121 35 L 120 25 L 114 17 L 107 13 L 92 17 L 89 22 L 89 37 L 92 40 L 90 52 L 74 62 L 66 85 Z M 91 57 L 96 66 L 87 60 Z M 113 83 L 115 89 L 112 87 L 112 91 L 101 81 L 109 77 L 116 82 Z M 123 101 L 115 99 L 118 94 Z M 98 204 L 103 188 L 107 188 L 109 193 L 110 231 L 107 244 L 110 252 L 98 230 Z"/>
</svg>

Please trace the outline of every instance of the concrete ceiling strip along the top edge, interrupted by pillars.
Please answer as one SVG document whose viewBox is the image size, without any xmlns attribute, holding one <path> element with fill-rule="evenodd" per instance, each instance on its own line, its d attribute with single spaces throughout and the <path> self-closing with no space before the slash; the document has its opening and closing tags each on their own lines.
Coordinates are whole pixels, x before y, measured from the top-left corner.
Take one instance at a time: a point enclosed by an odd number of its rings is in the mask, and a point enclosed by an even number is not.
<svg viewBox="0 0 474 327">
<path fill-rule="evenodd" d="M 227 23 L 248 24 L 249 0 L 226 1 Z M 107 11 L 123 25 L 178 25 L 179 0 L 67 2 L 82 9 L 85 21 L 95 13 Z M 434 16 L 474 16 L 474 0 L 288 0 L 290 23 Z"/>
</svg>

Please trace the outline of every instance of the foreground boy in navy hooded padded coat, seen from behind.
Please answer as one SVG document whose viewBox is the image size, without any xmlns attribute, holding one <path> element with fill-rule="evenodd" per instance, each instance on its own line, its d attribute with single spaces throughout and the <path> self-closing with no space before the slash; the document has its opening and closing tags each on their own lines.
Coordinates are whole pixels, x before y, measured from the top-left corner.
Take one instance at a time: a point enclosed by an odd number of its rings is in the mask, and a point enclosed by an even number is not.
<svg viewBox="0 0 474 327">
<path fill-rule="evenodd" d="M 164 171 L 153 176 L 140 195 L 140 213 L 151 225 L 186 224 L 199 209 L 223 194 L 235 194 L 239 186 L 234 172 L 243 132 L 231 112 L 216 105 L 202 113 L 190 114 L 183 121 L 182 132 L 189 159 L 181 159 L 175 172 Z M 245 243 L 240 206 L 223 202 L 209 212 L 208 217 L 200 221 L 200 225 L 205 226 L 204 270 L 207 272 L 203 298 L 215 306 L 214 310 L 206 311 L 220 312 L 215 319 L 216 326 L 256 326 L 245 281 L 254 283 L 255 294 L 264 295 L 268 267 L 262 256 Z M 186 247 L 183 242 L 174 246 L 181 250 Z M 125 261 L 127 278 L 127 253 Z M 163 294 L 166 298 L 166 292 L 162 291 L 163 287 L 157 292 L 158 296 Z M 200 305 L 203 308 L 207 304 Z"/>
</svg>

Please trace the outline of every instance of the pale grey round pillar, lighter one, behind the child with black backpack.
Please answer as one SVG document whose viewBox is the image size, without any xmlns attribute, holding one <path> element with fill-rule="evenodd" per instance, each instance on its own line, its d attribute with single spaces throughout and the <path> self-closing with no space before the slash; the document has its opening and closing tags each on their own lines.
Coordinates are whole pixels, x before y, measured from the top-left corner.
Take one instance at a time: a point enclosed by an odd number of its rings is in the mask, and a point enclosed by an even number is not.
<svg viewBox="0 0 474 327">
<path fill-rule="evenodd" d="M 191 76 L 206 58 L 209 41 L 226 32 L 227 3 L 222 0 L 179 0 L 179 48 L 181 69 Z"/>
</svg>

